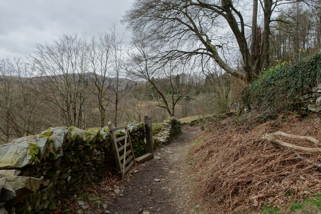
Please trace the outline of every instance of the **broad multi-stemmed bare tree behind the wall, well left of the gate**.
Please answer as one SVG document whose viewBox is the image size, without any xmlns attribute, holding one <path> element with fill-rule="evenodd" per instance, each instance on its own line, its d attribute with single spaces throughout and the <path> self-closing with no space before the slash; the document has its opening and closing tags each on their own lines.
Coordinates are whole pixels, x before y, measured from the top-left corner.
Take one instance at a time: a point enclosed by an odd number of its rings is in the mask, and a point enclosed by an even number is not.
<svg viewBox="0 0 321 214">
<path fill-rule="evenodd" d="M 30 58 L 38 72 L 39 94 L 55 115 L 56 124 L 85 126 L 89 84 L 85 78 L 89 70 L 86 38 L 62 34 L 52 44 L 37 44 L 36 48 Z"/>
</svg>

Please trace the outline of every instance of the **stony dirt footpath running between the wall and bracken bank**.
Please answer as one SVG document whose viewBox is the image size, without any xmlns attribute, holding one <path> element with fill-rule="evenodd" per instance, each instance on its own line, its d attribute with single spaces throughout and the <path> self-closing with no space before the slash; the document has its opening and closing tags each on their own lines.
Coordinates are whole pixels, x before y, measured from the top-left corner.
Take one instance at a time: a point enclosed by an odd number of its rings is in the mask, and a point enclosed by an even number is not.
<svg viewBox="0 0 321 214">
<path fill-rule="evenodd" d="M 110 213 L 190 213 L 195 208 L 191 181 L 186 175 L 187 152 L 196 127 L 182 126 L 182 134 L 169 145 L 154 151 L 152 159 L 143 164 L 124 188 L 122 197 L 109 207 Z M 156 179 L 156 180 L 154 180 Z M 157 180 L 159 179 L 159 180 Z"/>
</svg>

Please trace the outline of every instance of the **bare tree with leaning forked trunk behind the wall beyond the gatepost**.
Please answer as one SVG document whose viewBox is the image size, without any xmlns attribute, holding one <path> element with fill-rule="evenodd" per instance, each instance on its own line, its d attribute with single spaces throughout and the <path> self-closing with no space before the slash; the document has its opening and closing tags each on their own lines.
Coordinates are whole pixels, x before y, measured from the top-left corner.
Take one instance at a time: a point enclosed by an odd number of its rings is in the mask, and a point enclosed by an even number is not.
<svg viewBox="0 0 321 214">
<path fill-rule="evenodd" d="M 166 109 L 170 116 L 174 116 L 178 101 L 193 90 L 179 83 L 179 79 L 191 69 L 188 69 L 188 65 L 179 66 L 178 63 L 158 60 L 155 47 L 148 43 L 144 34 L 134 37 L 132 46 L 127 72 L 135 78 L 148 81 L 152 87 L 149 93 L 157 102 L 155 106 Z"/>
</svg>

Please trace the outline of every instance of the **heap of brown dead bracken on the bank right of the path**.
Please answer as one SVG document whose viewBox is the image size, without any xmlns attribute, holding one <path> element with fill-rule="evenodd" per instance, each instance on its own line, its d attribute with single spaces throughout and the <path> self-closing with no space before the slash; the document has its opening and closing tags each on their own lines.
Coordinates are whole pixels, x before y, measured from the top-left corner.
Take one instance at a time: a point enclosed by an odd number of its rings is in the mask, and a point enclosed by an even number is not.
<svg viewBox="0 0 321 214">
<path fill-rule="evenodd" d="M 321 119 L 283 117 L 275 127 L 270 121 L 254 129 L 228 118 L 198 136 L 191 150 L 195 185 L 217 212 L 290 205 L 321 192 Z"/>
</svg>

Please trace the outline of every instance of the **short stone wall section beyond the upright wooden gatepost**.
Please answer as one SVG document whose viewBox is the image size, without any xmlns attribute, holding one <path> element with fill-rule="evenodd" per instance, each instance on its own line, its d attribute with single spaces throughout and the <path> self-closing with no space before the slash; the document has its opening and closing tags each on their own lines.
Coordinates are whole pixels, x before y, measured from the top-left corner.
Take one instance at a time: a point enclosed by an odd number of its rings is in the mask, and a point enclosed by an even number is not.
<svg viewBox="0 0 321 214">
<path fill-rule="evenodd" d="M 167 117 L 163 122 L 163 127 L 158 134 L 153 137 L 154 148 L 160 148 L 169 144 L 173 139 L 182 133 L 181 121 L 175 117 Z"/>
</svg>

